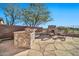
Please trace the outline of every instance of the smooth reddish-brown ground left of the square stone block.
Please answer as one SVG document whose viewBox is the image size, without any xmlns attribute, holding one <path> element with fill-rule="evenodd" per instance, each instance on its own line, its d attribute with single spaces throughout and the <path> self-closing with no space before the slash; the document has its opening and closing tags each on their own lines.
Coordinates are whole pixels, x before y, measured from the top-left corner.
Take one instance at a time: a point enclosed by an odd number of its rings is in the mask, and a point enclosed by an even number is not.
<svg viewBox="0 0 79 59">
<path fill-rule="evenodd" d="M 7 40 L 0 43 L 0 56 L 12 56 L 26 49 L 16 48 L 13 40 Z"/>
</svg>

